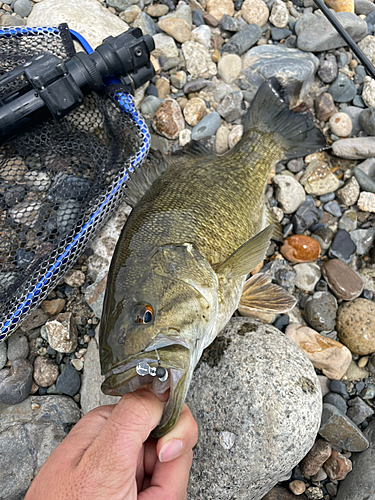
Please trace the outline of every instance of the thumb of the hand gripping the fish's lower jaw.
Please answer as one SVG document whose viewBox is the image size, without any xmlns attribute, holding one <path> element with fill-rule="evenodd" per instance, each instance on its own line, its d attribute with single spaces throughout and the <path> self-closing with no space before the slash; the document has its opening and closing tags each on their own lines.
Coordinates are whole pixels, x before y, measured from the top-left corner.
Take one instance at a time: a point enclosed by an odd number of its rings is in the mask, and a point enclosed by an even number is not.
<svg viewBox="0 0 375 500">
<path fill-rule="evenodd" d="M 163 409 L 164 403 L 145 388 L 123 396 L 84 453 L 79 468 L 86 473 L 96 469 L 95 482 L 113 484 L 134 477 L 142 445 L 160 422 Z"/>
</svg>

